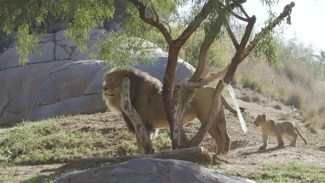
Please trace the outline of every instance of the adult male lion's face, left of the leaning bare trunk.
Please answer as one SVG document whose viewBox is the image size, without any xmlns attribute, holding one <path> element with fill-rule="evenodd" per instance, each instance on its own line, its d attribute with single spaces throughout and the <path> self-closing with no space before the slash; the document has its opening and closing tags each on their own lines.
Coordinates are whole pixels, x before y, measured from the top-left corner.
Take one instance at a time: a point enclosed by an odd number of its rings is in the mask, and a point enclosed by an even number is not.
<svg viewBox="0 0 325 183">
<path fill-rule="evenodd" d="M 103 76 L 102 96 L 110 108 L 121 110 L 121 86 L 124 77 L 130 77 L 131 72 L 125 69 L 112 69 Z"/>
</svg>

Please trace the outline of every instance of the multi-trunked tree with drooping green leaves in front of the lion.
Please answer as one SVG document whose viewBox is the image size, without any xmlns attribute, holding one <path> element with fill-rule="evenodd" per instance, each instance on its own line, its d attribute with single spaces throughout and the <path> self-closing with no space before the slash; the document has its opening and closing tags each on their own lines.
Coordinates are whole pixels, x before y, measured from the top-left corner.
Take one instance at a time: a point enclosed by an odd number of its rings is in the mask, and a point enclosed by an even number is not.
<svg viewBox="0 0 325 183">
<path fill-rule="evenodd" d="M 240 64 L 253 50 L 253 56 L 266 56 L 269 63 L 276 63 L 277 32 L 274 27 L 279 25 L 281 20 L 291 13 L 291 7 L 287 5 L 283 12 L 276 17 L 270 12 L 266 21 L 266 27 L 255 35 L 250 44 L 247 42 L 253 30 L 256 20 L 255 16 L 250 17 L 241 6 L 246 0 L 128 0 L 125 4 L 125 12 L 130 15 L 123 24 L 123 30 L 103 38 L 92 47 L 98 49 L 99 55 L 90 52 L 91 59 L 107 62 L 111 67 L 128 67 L 137 64 L 136 57 L 142 57 L 144 62 L 154 62 L 147 57 L 149 50 L 157 47 L 156 44 L 148 44 L 148 41 L 156 43 L 152 37 L 162 35 L 164 43 L 168 48 L 168 63 L 163 78 L 162 96 L 171 128 L 173 149 L 198 145 L 211 126 L 211 122 L 218 117 L 220 110 L 220 96 L 225 85 L 229 84 Z M 180 15 L 177 7 L 191 3 L 189 12 Z M 261 0 L 261 3 L 271 7 L 273 0 Z M 85 52 L 86 41 L 89 40 L 89 29 L 94 28 L 97 22 L 111 18 L 114 14 L 113 0 L 60 0 L 60 1 L 0 1 L 0 28 L 9 34 L 15 27 L 17 29 L 16 48 L 20 54 L 19 62 L 28 63 L 30 53 L 39 53 L 39 35 L 45 33 L 47 24 L 46 17 L 49 12 L 60 19 L 71 19 L 72 23 L 66 30 L 65 36 L 72 37 L 72 44 L 77 45 L 77 50 Z M 293 7 L 293 6 L 292 6 Z M 246 29 L 238 42 L 231 27 L 236 25 L 235 19 L 247 22 Z M 35 26 L 31 26 L 33 23 Z M 171 31 L 170 25 L 177 25 Z M 154 27 L 154 29 L 153 29 Z M 198 29 L 204 30 L 204 39 L 199 50 L 197 68 L 189 83 L 173 85 L 175 68 L 178 55 L 182 46 L 190 36 Z M 29 34 L 32 33 L 32 34 Z M 207 52 L 211 45 L 228 34 L 236 49 L 231 60 L 227 73 L 222 80 L 219 80 L 214 93 L 213 107 L 206 119 L 204 119 L 198 133 L 191 139 L 186 138 L 182 130 L 182 118 L 189 100 L 195 92 L 195 88 L 206 85 L 215 79 L 207 77 L 201 79 L 205 70 Z M 143 45 L 147 45 L 143 47 Z M 36 48 L 36 49 L 34 49 Z M 256 48 L 256 49 L 254 49 Z M 173 90 L 174 89 L 174 90 Z"/>
</svg>

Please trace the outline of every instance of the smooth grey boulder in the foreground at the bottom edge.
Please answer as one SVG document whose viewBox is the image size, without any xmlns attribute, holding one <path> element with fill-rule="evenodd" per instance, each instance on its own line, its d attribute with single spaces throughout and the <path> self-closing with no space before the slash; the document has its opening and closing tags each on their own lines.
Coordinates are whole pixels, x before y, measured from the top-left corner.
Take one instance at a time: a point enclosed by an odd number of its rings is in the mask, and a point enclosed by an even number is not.
<svg viewBox="0 0 325 183">
<path fill-rule="evenodd" d="M 180 160 L 136 158 L 120 164 L 64 174 L 54 183 L 256 183 Z"/>
</svg>

